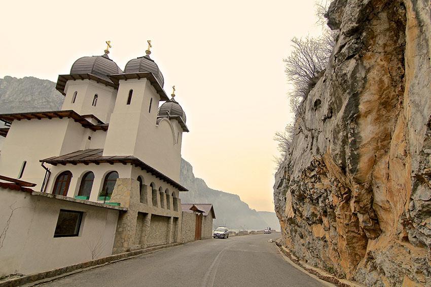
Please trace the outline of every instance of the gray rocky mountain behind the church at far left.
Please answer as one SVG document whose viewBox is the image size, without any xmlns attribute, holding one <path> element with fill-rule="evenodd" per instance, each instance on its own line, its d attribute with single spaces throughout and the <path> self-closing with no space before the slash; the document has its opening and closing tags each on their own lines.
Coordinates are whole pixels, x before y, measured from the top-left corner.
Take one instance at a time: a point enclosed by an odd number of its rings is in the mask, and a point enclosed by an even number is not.
<svg viewBox="0 0 431 287">
<path fill-rule="evenodd" d="M 35 77 L 0 78 L 0 113 L 59 110 L 64 96 L 50 80 Z"/>
</svg>

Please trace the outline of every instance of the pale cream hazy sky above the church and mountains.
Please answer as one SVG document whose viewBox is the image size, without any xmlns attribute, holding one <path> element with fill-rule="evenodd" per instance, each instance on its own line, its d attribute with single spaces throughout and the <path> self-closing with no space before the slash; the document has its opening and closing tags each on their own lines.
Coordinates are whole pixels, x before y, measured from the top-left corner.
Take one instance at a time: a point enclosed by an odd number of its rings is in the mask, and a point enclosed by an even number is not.
<svg viewBox="0 0 431 287">
<path fill-rule="evenodd" d="M 187 115 L 183 157 L 209 187 L 273 211 L 273 135 L 291 120 L 282 59 L 315 35 L 314 1 L 7 1 L 0 77 L 52 81 L 82 56 L 151 57 Z"/>
</svg>

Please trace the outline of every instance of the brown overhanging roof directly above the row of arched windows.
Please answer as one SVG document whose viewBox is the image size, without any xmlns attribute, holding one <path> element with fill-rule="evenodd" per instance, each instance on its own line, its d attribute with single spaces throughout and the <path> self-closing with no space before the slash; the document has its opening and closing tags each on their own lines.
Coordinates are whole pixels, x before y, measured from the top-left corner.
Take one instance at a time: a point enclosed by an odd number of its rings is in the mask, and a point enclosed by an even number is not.
<svg viewBox="0 0 431 287">
<path fill-rule="evenodd" d="M 173 179 L 165 176 L 158 170 L 150 167 L 149 165 L 147 165 L 147 163 L 141 161 L 139 158 L 136 158 L 132 155 L 103 155 L 102 148 L 78 150 L 65 155 L 41 159 L 40 161 L 50 163 L 50 165 L 53 166 L 67 164 L 76 165 L 77 163 L 84 163 L 84 165 L 88 165 L 89 163 L 95 163 L 96 165 L 98 165 L 99 163 L 110 163 L 111 165 L 113 165 L 114 163 L 118 162 L 126 165 L 127 163 L 130 163 L 131 165 L 139 167 L 142 170 L 145 170 L 148 173 L 160 178 L 161 180 L 177 188 L 179 191 L 188 191 L 187 188 L 177 183 Z"/>
</svg>

